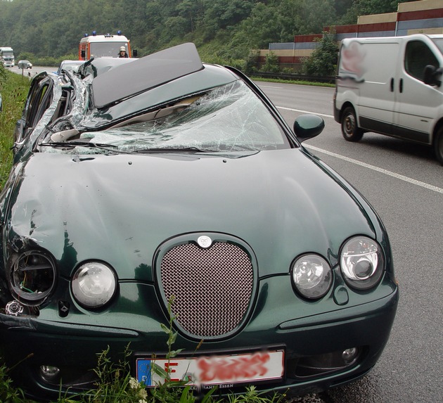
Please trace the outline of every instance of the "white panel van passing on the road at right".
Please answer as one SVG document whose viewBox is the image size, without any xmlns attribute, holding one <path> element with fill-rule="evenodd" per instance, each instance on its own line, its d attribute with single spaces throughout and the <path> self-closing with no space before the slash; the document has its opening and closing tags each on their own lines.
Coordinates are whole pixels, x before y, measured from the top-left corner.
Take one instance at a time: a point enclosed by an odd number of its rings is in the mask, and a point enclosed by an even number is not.
<svg viewBox="0 0 443 403">
<path fill-rule="evenodd" d="M 443 35 L 343 39 L 334 94 L 343 137 L 428 144 L 443 165 L 442 67 Z"/>
</svg>

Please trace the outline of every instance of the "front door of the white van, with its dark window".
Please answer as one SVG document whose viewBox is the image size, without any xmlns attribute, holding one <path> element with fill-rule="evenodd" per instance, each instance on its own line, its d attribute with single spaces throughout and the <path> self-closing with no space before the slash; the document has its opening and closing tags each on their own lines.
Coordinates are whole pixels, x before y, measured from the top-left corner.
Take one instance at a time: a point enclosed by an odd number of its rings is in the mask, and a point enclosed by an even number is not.
<svg viewBox="0 0 443 403">
<path fill-rule="evenodd" d="M 442 55 L 423 39 L 405 41 L 402 51 L 395 86 L 394 136 L 430 144 L 442 93 L 424 83 L 424 71 L 426 65 L 441 67 Z"/>
</svg>

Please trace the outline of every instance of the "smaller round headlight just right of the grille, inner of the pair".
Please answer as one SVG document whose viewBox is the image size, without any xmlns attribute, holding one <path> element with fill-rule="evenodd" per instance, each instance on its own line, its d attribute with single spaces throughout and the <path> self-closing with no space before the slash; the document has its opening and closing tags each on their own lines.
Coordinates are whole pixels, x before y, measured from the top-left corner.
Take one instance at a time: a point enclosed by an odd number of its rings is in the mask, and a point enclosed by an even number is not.
<svg viewBox="0 0 443 403">
<path fill-rule="evenodd" d="M 303 297 L 321 298 L 332 284 L 333 276 L 328 262 L 319 255 L 298 257 L 292 267 L 293 284 Z"/>
</svg>

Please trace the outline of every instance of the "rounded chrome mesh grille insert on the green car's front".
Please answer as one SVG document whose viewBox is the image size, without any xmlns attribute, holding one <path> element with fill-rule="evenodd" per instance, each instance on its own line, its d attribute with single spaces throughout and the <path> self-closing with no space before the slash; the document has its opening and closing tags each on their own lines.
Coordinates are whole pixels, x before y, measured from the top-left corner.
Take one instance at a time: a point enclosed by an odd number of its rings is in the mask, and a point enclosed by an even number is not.
<svg viewBox="0 0 443 403">
<path fill-rule="evenodd" d="M 193 243 L 178 245 L 165 254 L 160 270 L 167 300 L 174 296 L 172 313 L 191 335 L 225 335 L 248 311 L 252 264 L 236 245 L 217 242 L 207 249 Z"/>
</svg>

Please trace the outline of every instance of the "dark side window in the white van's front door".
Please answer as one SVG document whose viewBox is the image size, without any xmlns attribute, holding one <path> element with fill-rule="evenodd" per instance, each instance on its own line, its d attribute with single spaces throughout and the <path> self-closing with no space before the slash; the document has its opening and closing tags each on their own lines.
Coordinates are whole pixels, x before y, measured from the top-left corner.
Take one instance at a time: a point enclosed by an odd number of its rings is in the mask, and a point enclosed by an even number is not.
<svg viewBox="0 0 443 403">
<path fill-rule="evenodd" d="M 404 70 L 412 77 L 423 81 L 427 65 L 439 68 L 439 63 L 428 45 L 422 41 L 410 41 L 404 53 Z"/>
</svg>

